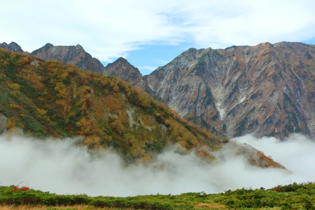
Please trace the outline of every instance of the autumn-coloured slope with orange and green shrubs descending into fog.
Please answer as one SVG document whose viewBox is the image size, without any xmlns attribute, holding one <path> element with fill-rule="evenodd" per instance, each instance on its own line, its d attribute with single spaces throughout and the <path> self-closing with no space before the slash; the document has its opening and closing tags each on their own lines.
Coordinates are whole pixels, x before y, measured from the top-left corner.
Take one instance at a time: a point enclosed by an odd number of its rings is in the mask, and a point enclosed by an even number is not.
<svg viewBox="0 0 315 210">
<path fill-rule="evenodd" d="M 284 168 L 249 146 L 199 130 L 118 78 L 60 61 L 0 49 L 0 91 L 7 132 L 20 127 L 38 137 L 82 136 L 90 149 L 112 147 L 127 162 L 148 161 L 175 143 L 213 160 L 212 151 L 231 144 L 254 165 Z"/>
</svg>

